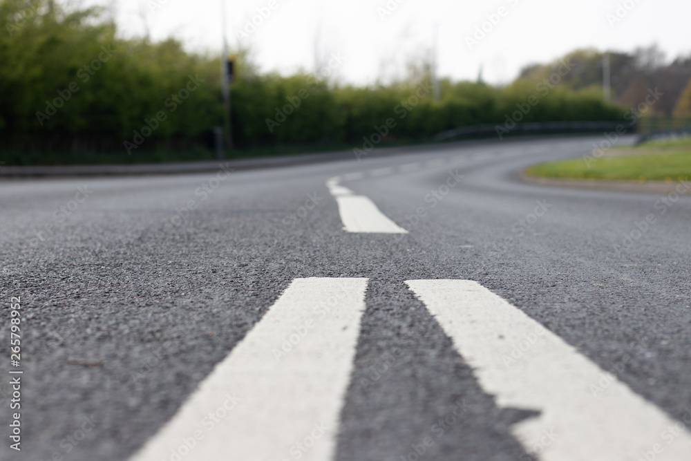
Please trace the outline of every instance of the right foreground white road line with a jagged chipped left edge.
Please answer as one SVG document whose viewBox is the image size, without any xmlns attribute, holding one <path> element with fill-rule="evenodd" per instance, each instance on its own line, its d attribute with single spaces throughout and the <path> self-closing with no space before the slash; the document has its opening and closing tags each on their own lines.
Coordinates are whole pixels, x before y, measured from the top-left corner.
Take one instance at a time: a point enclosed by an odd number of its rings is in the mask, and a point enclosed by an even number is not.
<svg viewBox="0 0 691 461">
<path fill-rule="evenodd" d="M 406 283 L 499 406 L 541 412 L 512 428 L 528 451 L 538 447 L 538 459 L 691 459 L 691 434 L 683 424 L 479 283 Z"/>
</svg>

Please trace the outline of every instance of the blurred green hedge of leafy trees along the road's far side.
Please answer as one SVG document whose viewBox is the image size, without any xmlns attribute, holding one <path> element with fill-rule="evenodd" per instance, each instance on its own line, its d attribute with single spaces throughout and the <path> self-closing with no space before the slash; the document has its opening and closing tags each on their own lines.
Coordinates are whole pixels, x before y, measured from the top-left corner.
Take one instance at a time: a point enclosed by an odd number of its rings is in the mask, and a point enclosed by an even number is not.
<svg viewBox="0 0 691 461">
<path fill-rule="evenodd" d="M 189 53 L 173 39 L 118 38 L 101 10 L 65 10 L 51 0 L 0 0 L 0 21 L 0 156 L 10 162 L 22 162 L 17 152 L 190 149 L 210 144 L 211 128 L 223 126 L 218 57 Z M 305 73 L 261 74 L 243 57 L 231 120 L 234 142 L 244 148 L 361 148 L 475 124 L 620 120 L 625 111 L 603 103 L 595 83 L 574 89 L 573 69 L 560 63 L 533 67 L 502 88 L 442 79 L 435 102 L 424 69 L 392 84 L 354 87 Z M 10 151 L 15 156 L 4 154 Z"/>
</svg>

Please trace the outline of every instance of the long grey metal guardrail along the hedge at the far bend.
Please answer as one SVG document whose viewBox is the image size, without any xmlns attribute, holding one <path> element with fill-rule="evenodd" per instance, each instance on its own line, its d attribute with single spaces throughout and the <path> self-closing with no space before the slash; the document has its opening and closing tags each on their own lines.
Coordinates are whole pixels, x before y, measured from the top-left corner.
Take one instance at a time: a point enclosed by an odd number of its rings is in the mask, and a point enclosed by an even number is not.
<svg viewBox="0 0 691 461">
<path fill-rule="evenodd" d="M 441 142 L 446 140 L 453 140 L 457 138 L 480 138 L 488 135 L 496 135 L 499 137 L 510 135 L 539 135 L 539 134 L 556 134 L 556 133 L 591 133 L 593 131 L 616 131 L 618 128 L 621 131 L 621 121 L 598 121 L 598 122 L 529 122 L 517 123 L 512 129 L 507 129 L 503 123 L 496 124 L 482 124 L 462 126 L 443 133 L 434 135 L 431 140 L 434 142 Z M 636 125 L 630 126 L 626 123 L 625 128 L 627 132 L 635 132 Z M 501 129 L 501 130 L 500 130 Z"/>
</svg>

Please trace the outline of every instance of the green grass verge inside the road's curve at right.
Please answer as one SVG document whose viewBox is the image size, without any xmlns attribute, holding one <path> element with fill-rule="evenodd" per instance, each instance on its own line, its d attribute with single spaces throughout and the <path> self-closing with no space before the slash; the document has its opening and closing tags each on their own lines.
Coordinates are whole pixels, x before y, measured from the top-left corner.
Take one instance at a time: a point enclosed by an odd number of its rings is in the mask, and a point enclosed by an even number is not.
<svg viewBox="0 0 691 461">
<path fill-rule="evenodd" d="M 525 172 L 540 178 L 667 181 L 691 177 L 691 138 L 645 142 L 601 158 L 540 163 Z"/>
</svg>

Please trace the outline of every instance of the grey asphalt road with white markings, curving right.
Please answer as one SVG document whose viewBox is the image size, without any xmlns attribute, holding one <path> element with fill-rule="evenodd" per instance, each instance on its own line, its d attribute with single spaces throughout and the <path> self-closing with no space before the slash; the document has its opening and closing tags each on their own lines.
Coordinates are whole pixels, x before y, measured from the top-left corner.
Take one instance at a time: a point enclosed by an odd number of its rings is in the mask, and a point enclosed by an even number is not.
<svg viewBox="0 0 691 461">
<path fill-rule="evenodd" d="M 600 140 L 1 182 L 0 459 L 690 460 L 691 189 L 516 178 Z"/>
</svg>

